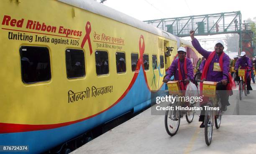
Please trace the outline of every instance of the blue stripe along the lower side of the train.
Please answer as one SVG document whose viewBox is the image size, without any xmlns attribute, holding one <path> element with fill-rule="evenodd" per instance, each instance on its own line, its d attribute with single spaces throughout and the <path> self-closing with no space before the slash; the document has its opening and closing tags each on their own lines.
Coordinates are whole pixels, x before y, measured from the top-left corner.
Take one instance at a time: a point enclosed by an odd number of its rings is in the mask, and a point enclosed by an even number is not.
<svg viewBox="0 0 256 154">
<path fill-rule="evenodd" d="M 115 90 L 115 87 L 113 87 L 113 90 Z M 164 90 L 164 86 L 161 87 L 161 90 Z M 40 153 L 51 149 L 64 141 L 72 139 L 106 121 L 114 119 L 115 117 L 132 110 L 134 106 L 136 106 L 135 110 L 141 110 L 150 105 L 150 99 L 151 93 L 148 91 L 142 68 L 140 68 L 138 77 L 131 90 L 118 104 L 108 111 L 91 119 L 56 129 L 0 134 L 0 145 L 28 145 L 29 152 L 22 153 Z M 15 153 L 17 152 L 5 152 L 5 154 Z"/>
</svg>

